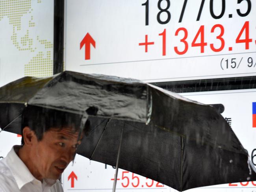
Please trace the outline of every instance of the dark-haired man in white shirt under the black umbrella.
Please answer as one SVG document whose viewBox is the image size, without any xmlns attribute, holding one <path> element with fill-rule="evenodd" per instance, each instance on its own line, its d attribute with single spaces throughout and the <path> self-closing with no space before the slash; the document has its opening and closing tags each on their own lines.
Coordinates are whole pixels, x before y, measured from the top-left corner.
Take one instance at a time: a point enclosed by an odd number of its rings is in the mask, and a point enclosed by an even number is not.
<svg viewBox="0 0 256 192">
<path fill-rule="evenodd" d="M 80 115 L 26 107 L 22 145 L 0 161 L 0 192 L 62 192 L 58 179 L 81 143 L 80 122 Z"/>
</svg>

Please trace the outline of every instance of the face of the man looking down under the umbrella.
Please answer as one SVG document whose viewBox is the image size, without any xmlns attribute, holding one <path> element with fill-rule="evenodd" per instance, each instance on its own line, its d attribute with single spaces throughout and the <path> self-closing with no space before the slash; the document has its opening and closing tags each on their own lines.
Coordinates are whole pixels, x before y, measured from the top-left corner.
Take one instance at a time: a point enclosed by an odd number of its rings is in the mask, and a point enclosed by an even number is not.
<svg viewBox="0 0 256 192">
<path fill-rule="evenodd" d="M 60 177 L 81 143 L 78 135 L 70 128 L 52 128 L 43 134 L 41 141 L 34 141 L 32 161 L 42 178 L 56 180 Z"/>
</svg>

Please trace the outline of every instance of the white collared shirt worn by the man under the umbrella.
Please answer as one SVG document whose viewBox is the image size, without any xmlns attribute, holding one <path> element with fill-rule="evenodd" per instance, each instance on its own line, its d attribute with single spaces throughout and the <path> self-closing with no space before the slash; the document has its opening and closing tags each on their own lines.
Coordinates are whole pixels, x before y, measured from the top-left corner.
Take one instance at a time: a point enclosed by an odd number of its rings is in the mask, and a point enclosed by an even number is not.
<svg viewBox="0 0 256 192">
<path fill-rule="evenodd" d="M 17 147 L 0 161 L 0 192 L 63 192 L 58 180 L 37 180 L 16 154 Z"/>
</svg>

